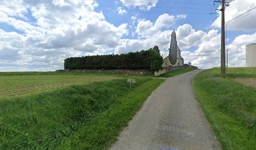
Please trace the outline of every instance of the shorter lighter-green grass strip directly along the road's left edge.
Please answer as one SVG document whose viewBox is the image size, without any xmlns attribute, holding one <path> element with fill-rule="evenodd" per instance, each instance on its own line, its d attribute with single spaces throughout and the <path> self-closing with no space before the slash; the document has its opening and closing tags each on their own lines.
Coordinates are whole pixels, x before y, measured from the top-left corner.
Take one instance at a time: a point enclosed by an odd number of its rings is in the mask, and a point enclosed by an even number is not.
<svg viewBox="0 0 256 150">
<path fill-rule="evenodd" d="M 73 137 L 62 143 L 58 149 L 108 149 L 120 131 L 141 108 L 148 96 L 161 83 L 153 79 L 120 99 L 119 104 L 94 118 L 83 126 Z"/>
</svg>

